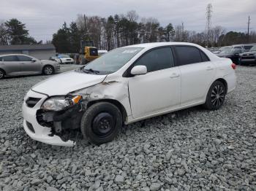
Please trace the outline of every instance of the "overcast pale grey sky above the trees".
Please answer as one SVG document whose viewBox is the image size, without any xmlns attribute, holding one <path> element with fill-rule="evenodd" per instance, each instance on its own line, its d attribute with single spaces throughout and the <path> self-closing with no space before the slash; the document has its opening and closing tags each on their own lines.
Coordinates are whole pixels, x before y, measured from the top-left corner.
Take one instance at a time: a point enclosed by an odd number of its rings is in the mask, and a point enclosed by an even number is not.
<svg viewBox="0 0 256 191">
<path fill-rule="evenodd" d="M 140 17 L 156 17 L 161 26 L 184 23 L 189 31 L 206 28 L 206 6 L 212 4 L 212 26 L 223 26 L 227 31 L 246 31 L 248 16 L 256 31 L 256 0 L 0 0 L 0 20 L 12 17 L 26 23 L 35 39 L 52 39 L 66 21 L 76 20 L 78 14 L 125 14 L 135 10 Z"/>
</svg>

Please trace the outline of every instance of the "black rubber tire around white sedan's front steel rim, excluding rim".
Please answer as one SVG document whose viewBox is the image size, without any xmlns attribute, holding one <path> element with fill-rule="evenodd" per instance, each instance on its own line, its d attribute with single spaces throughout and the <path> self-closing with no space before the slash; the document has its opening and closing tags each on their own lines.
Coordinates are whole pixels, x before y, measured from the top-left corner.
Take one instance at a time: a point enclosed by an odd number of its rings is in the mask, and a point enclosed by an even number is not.
<svg viewBox="0 0 256 191">
<path fill-rule="evenodd" d="M 112 132 L 105 136 L 104 138 L 97 136 L 92 130 L 92 123 L 94 121 L 94 117 L 96 117 L 101 112 L 110 113 L 114 119 L 116 119 L 116 124 L 112 130 Z M 122 117 L 119 109 L 108 102 L 100 102 L 94 104 L 86 110 L 81 119 L 81 131 L 83 136 L 88 139 L 90 142 L 94 144 L 103 144 L 109 141 L 112 141 L 117 135 L 122 125 Z"/>
</svg>

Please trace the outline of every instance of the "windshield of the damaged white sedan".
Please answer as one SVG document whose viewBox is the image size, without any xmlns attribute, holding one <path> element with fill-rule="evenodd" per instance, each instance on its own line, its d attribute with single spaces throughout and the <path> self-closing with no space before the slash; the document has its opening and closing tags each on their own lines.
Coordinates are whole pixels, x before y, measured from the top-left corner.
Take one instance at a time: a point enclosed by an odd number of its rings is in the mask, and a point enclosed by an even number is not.
<svg viewBox="0 0 256 191">
<path fill-rule="evenodd" d="M 132 59 L 142 47 L 121 47 L 105 53 L 101 57 L 91 61 L 82 69 L 88 73 L 111 74 L 121 69 L 130 59 Z"/>
</svg>

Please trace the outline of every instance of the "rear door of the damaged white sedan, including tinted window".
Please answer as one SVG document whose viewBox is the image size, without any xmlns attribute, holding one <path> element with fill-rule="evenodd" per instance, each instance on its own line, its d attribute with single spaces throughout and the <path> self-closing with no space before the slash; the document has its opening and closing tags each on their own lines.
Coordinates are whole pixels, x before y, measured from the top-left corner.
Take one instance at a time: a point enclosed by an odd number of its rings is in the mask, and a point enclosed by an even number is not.
<svg viewBox="0 0 256 191">
<path fill-rule="evenodd" d="M 175 46 L 181 71 L 181 106 L 203 101 L 216 69 L 207 55 L 197 47 Z"/>
</svg>

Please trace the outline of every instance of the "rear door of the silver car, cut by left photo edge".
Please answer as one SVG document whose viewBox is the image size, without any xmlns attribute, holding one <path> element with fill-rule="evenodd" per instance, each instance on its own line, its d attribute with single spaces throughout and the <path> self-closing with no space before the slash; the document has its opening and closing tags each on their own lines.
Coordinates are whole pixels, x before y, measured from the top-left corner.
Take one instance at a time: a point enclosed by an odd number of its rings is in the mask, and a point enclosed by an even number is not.
<svg viewBox="0 0 256 191">
<path fill-rule="evenodd" d="M 0 58 L 0 68 L 4 69 L 7 75 L 17 75 L 20 73 L 20 64 L 16 55 L 6 55 Z"/>
</svg>

